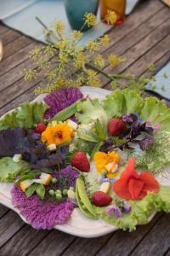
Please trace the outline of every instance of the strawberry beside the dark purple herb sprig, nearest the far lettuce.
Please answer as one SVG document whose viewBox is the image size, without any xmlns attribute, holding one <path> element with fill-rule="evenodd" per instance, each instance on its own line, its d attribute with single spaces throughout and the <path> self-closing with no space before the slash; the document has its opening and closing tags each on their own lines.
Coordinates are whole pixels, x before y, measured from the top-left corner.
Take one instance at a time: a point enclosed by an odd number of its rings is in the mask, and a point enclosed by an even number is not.
<svg viewBox="0 0 170 256">
<path fill-rule="evenodd" d="M 109 133 L 113 136 L 119 135 L 125 129 L 125 122 L 122 119 L 111 119 L 109 121 Z"/>
</svg>

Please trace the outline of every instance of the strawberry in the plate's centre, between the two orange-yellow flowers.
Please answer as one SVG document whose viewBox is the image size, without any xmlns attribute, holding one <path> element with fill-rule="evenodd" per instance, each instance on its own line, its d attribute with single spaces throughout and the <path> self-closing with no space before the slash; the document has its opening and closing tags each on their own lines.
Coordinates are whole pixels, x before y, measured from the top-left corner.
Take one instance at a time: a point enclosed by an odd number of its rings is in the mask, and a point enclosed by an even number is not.
<svg viewBox="0 0 170 256">
<path fill-rule="evenodd" d="M 88 157 L 83 152 L 77 152 L 72 155 L 71 166 L 76 167 L 78 170 L 82 172 L 90 171 L 90 164 L 88 161 Z"/>
</svg>

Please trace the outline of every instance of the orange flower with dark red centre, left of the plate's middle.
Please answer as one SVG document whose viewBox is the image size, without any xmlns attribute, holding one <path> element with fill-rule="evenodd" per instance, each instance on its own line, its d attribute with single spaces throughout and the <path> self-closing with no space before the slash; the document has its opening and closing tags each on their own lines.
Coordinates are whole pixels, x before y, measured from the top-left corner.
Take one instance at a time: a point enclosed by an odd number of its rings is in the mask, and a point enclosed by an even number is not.
<svg viewBox="0 0 170 256">
<path fill-rule="evenodd" d="M 57 125 L 48 126 L 45 131 L 42 132 L 42 143 L 47 145 L 65 143 L 74 137 L 74 132 L 66 123 L 59 123 Z"/>
</svg>

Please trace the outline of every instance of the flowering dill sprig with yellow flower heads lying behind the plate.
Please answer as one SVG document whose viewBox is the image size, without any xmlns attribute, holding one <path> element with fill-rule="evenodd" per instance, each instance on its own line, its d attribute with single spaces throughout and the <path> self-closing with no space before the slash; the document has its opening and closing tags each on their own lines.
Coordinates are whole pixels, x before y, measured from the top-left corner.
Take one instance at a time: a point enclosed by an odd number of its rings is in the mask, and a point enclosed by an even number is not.
<svg viewBox="0 0 170 256">
<path fill-rule="evenodd" d="M 65 24 L 58 20 L 54 28 L 48 28 L 42 20 L 36 18 L 44 28 L 47 44 L 36 47 L 31 51 L 31 60 L 34 62 L 32 68 L 26 71 L 25 80 L 37 79 L 43 70 L 42 84 L 35 90 L 36 94 L 50 93 L 62 87 L 80 87 L 83 84 L 100 87 L 101 77 L 109 79 L 111 88 L 129 87 L 144 94 L 144 86 L 153 79 L 148 77 L 134 76 L 128 73 L 108 73 L 105 67 L 110 66 L 113 71 L 118 65 L 126 61 L 122 56 L 114 54 L 104 55 L 101 53 L 103 47 L 109 44 L 110 38 L 104 35 L 96 40 L 90 40 L 82 48 L 80 41 L 83 32 L 74 31 L 70 36 L 65 34 Z M 108 14 L 108 20 L 115 20 L 114 12 Z M 95 24 L 95 15 L 86 14 L 84 26 L 98 26 Z M 148 67 L 150 72 L 154 71 L 154 65 Z M 46 86 L 46 87 L 44 87 Z M 155 86 L 155 85 L 154 85 Z"/>
</svg>

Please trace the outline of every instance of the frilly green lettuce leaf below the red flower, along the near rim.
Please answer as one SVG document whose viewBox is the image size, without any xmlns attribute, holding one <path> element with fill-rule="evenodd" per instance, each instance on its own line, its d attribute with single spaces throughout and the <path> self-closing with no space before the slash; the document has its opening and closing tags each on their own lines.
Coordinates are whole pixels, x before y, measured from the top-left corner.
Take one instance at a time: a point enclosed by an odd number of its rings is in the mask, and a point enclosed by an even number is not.
<svg viewBox="0 0 170 256">
<path fill-rule="evenodd" d="M 115 216 L 108 217 L 104 207 L 95 207 L 95 212 L 99 218 L 103 218 L 106 222 L 118 226 L 122 230 L 136 230 L 137 224 L 147 224 L 148 218 L 153 211 L 170 212 L 170 187 L 161 186 L 160 192 L 157 194 L 148 193 L 144 199 L 140 201 L 128 201 L 132 210 L 123 213 L 122 218 Z"/>
</svg>

